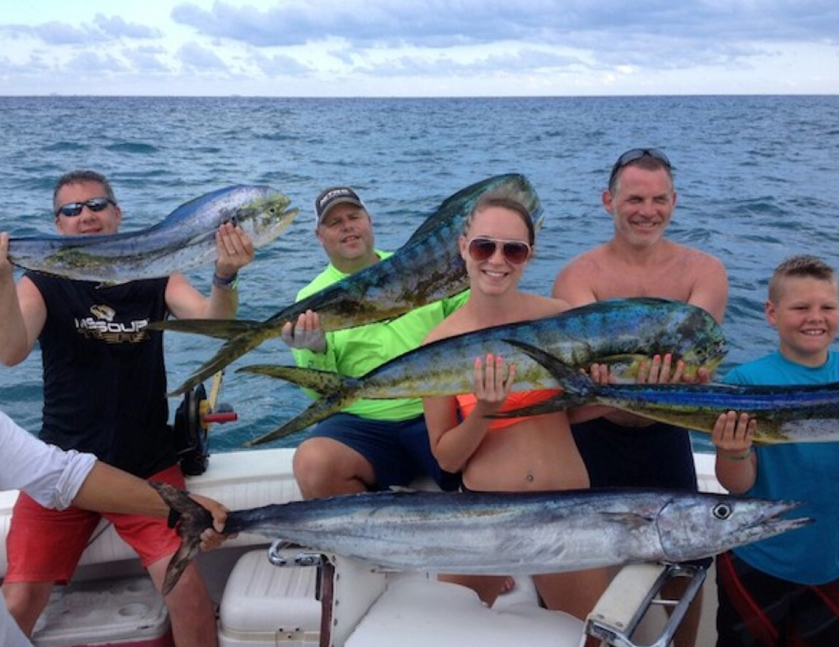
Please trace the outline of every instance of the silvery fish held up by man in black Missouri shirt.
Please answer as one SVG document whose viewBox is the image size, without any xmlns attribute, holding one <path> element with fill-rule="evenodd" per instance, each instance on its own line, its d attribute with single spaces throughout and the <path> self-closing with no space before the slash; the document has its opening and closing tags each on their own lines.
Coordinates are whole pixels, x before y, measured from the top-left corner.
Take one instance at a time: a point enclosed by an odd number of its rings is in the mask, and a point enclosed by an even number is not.
<svg viewBox="0 0 839 647">
<path fill-rule="evenodd" d="M 288 228 L 296 209 L 265 186 L 232 186 L 181 204 L 147 229 L 105 236 L 33 236 L 9 239 L 15 265 L 55 276 L 124 283 L 188 272 L 216 259 L 216 230 L 233 222 L 261 247 Z"/>
</svg>

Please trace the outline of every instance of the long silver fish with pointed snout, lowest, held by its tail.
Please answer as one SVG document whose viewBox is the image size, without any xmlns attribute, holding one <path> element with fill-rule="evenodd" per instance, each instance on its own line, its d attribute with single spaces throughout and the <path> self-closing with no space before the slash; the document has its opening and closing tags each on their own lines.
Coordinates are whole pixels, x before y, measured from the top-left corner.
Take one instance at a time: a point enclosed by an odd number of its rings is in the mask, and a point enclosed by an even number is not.
<svg viewBox="0 0 839 647">
<path fill-rule="evenodd" d="M 153 484 L 180 513 L 175 586 L 211 527 L 180 490 Z M 376 492 L 237 510 L 225 534 L 253 532 L 389 570 L 475 575 L 579 571 L 628 562 L 685 562 L 800 528 L 795 501 L 639 489 L 560 492 Z"/>
</svg>

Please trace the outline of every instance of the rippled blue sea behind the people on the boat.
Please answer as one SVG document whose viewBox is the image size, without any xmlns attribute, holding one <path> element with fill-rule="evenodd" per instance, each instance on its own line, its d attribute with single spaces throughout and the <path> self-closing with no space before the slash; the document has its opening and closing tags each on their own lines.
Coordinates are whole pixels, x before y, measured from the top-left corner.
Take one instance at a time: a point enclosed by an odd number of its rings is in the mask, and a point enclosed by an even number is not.
<svg viewBox="0 0 839 647">
<path fill-rule="evenodd" d="M 611 235 L 602 189 L 615 158 L 636 147 L 661 148 L 674 164 L 670 237 L 727 266 L 731 350 L 722 373 L 774 347 L 763 299 L 779 261 L 807 252 L 839 264 L 839 96 L 0 97 L 0 131 L 0 226 L 13 236 L 54 233 L 52 188 L 74 168 L 112 180 L 122 230 L 152 225 L 229 184 L 288 194 L 300 215 L 242 272 L 242 318 L 267 318 L 291 303 L 326 263 L 311 204 L 331 184 L 357 189 L 378 246 L 393 250 L 457 190 L 524 173 L 547 215 L 524 288 L 549 294 L 565 262 Z M 206 292 L 211 272 L 190 279 Z M 167 334 L 170 385 L 217 345 Z M 304 408 L 296 387 L 235 373 L 265 362 L 292 358 L 272 340 L 228 367 L 221 400 L 239 419 L 211 427 L 212 451 L 238 448 Z M 40 425 L 40 371 L 37 349 L 21 365 L 0 367 L 0 408 L 32 431 Z M 178 403 L 170 401 L 172 411 Z"/>
</svg>

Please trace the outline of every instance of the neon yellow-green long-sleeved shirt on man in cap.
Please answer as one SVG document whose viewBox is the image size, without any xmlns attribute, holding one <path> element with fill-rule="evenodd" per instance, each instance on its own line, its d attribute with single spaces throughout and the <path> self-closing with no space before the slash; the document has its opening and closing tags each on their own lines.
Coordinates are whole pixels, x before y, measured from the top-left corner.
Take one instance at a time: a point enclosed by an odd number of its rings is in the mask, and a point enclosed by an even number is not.
<svg viewBox="0 0 839 647">
<path fill-rule="evenodd" d="M 376 250 L 379 259 L 392 252 Z M 297 300 L 322 290 L 348 275 L 331 263 L 297 294 Z M 326 333 L 326 352 L 313 353 L 293 349 L 294 361 L 305 368 L 332 370 L 341 375 L 359 377 L 388 360 L 417 348 L 438 323 L 460 308 L 469 297 L 468 290 L 456 297 L 442 299 L 411 310 L 399 318 L 346 330 Z M 310 394 L 314 395 L 314 394 Z M 343 411 L 373 420 L 401 421 L 421 416 L 420 398 L 394 400 L 358 400 Z"/>
</svg>

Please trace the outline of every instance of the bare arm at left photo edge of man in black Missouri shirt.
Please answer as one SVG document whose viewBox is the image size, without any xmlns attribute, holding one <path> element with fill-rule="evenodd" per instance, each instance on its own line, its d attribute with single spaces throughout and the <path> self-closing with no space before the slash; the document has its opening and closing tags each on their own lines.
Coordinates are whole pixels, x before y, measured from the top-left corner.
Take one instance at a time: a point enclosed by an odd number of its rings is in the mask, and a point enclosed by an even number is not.
<svg viewBox="0 0 839 647">
<path fill-rule="evenodd" d="M 29 278 L 14 282 L 8 234 L 0 234 L 0 362 L 13 366 L 27 357 L 46 321 L 44 298 Z"/>
</svg>

